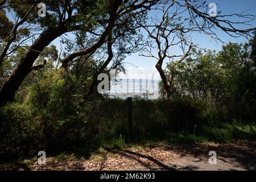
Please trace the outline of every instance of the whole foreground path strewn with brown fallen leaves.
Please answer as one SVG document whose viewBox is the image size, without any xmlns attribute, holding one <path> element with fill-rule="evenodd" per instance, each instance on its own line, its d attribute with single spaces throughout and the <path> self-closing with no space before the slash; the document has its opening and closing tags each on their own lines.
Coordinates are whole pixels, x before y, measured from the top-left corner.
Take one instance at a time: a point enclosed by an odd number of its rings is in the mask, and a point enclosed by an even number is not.
<svg viewBox="0 0 256 182">
<path fill-rule="evenodd" d="M 216 151 L 217 164 L 210 165 L 209 151 Z M 0 165 L 18 170 L 256 170 L 256 142 L 232 144 L 170 145 L 166 143 L 101 149 L 90 159 L 47 158 L 47 164 Z"/>
</svg>

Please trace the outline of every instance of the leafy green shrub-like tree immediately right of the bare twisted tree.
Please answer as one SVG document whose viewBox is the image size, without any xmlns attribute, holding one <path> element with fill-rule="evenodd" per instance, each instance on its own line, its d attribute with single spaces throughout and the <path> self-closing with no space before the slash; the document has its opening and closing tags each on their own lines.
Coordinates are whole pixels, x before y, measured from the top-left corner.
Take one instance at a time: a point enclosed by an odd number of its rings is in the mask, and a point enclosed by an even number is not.
<svg viewBox="0 0 256 182">
<path fill-rule="evenodd" d="M 172 75 L 171 96 L 194 100 L 218 100 L 223 92 L 225 71 L 216 59 L 216 52 L 194 52 L 191 57 L 167 65 Z"/>
</svg>

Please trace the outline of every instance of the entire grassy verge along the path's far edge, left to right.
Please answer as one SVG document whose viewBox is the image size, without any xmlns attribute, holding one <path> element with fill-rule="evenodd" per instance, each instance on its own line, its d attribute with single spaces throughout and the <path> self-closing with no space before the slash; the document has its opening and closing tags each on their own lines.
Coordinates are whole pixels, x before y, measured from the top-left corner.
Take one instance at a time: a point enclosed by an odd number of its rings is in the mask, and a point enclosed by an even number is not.
<svg viewBox="0 0 256 182">
<path fill-rule="evenodd" d="M 184 131 L 180 133 L 167 133 L 166 138 L 151 138 L 144 139 L 137 142 L 127 142 L 126 138 L 119 135 L 118 138 L 104 140 L 97 150 L 88 150 L 88 148 L 78 148 L 74 152 L 62 152 L 55 156 L 51 156 L 53 160 L 65 162 L 71 158 L 77 158 L 80 160 L 95 160 L 102 161 L 109 156 L 112 156 L 114 152 L 122 149 L 142 149 L 154 144 L 154 143 L 168 143 L 168 144 L 185 144 L 185 143 L 232 143 L 236 140 L 256 140 L 256 125 L 254 124 L 242 124 L 239 122 L 221 123 L 216 126 L 201 126 L 197 129 L 195 134 L 189 134 Z M 38 160 L 37 156 L 31 159 L 14 160 L 8 163 L 0 164 L 1 168 L 23 168 L 30 170 L 30 166 Z"/>
</svg>

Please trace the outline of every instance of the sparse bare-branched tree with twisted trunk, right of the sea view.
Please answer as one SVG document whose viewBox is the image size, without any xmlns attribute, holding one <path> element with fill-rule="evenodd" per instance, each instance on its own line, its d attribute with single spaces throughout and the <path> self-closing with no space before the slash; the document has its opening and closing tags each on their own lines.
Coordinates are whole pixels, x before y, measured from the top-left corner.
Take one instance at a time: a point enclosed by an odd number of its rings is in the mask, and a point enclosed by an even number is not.
<svg viewBox="0 0 256 182">
<path fill-rule="evenodd" d="M 171 96 L 172 73 L 169 72 L 168 76 L 164 74 L 163 62 L 165 59 L 182 61 L 191 54 L 192 48 L 197 47 L 189 38 L 191 32 L 203 32 L 213 39 L 220 40 L 214 31 L 216 29 L 234 37 L 250 37 L 251 32 L 255 30 L 255 28 L 244 30 L 236 28 L 237 24 L 245 25 L 251 22 L 254 19 L 253 15 L 221 15 L 219 12 L 216 16 L 212 16 L 207 13 L 208 8 L 206 11 L 202 9 L 205 10 L 205 1 L 163 1 L 155 9 L 158 16 L 147 17 L 144 21 L 147 22 L 146 24 L 139 22 L 148 34 L 147 54 L 142 52 L 141 55 L 154 57 L 157 60 L 156 69 L 162 78 L 166 98 Z M 244 18 L 246 21 L 234 22 L 230 19 L 236 17 Z M 183 54 L 175 54 L 172 51 L 175 47 L 180 47 L 180 52 Z M 153 53 L 155 48 L 157 49 L 156 55 Z"/>
</svg>

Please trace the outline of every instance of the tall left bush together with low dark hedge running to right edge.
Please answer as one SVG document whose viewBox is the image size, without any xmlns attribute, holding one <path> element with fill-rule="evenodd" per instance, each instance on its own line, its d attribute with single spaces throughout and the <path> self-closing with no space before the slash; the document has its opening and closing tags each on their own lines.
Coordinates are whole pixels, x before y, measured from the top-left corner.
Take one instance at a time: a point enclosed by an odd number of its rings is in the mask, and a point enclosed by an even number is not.
<svg viewBox="0 0 256 182">
<path fill-rule="evenodd" d="M 142 142 L 204 138 L 228 142 L 255 136 L 255 105 L 180 97 L 155 101 L 135 98 L 129 133 L 126 100 L 85 101 L 80 85 L 75 76 L 50 72 L 30 87 L 23 103 L 1 107 L 1 159 L 33 156 L 40 150 L 47 155 L 67 151 L 88 156 L 110 139 Z M 247 127 L 233 126 L 233 121 L 246 122 Z"/>
</svg>

